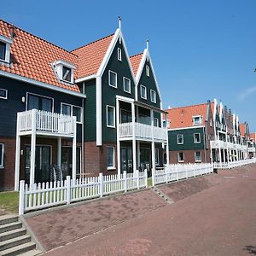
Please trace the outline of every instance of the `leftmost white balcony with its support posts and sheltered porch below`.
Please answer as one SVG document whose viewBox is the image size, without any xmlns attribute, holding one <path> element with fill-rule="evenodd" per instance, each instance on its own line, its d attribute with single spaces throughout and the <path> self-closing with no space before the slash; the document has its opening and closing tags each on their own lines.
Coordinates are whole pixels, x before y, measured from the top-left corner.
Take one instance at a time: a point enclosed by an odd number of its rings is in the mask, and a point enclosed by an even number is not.
<svg viewBox="0 0 256 256">
<path fill-rule="evenodd" d="M 26 147 L 21 150 L 21 139 L 26 141 Z M 47 166 L 51 162 L 52 148 L 43 139 L 54 139 L 56 144 L 56 161 L 53 176 L 61 172 L 61 142 L 62 139 L 71 141 L 72 144 L 72 177 L 76 177 L 77 162 L 77 124 L 76 117 L 60 113 L 51 113 L 32 109 L 17 114 L 16 153 L 15 153 L 15 190 L 19 190 L 20 180 L 20 155 L 26 156 L 25 176 L 30 184 L 50 179 L 48 172 L 38 173 L 38 166 Z M 39 143 L 38 143 L 39 142 Z M 24 143 L 24 142 L 23 142 Z M 37 169 L 36 169 L 37 167 Z M 39 168 L 43 170 L 43 167 Z M 24 176 L 24 175 L 23 175 Z M 43 178 L 44 177 L 44 178 Z M 40 180 L 41 178 L 41 180 Z M 52 177 L 54 178 L 54 177 Z M 57 177 L 58 179 L 61 178 Z M 49 180 L 50 181 L 50 180 Z"/>
</svg>

